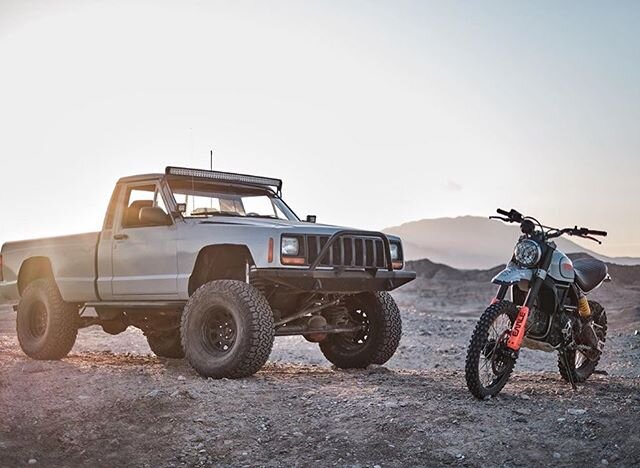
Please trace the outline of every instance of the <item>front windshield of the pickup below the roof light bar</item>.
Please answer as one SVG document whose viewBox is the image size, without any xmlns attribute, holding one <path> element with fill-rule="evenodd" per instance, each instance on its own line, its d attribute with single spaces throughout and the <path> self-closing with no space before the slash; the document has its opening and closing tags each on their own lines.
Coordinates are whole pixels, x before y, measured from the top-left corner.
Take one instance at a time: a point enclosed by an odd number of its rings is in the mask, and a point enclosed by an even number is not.
<svg viewBox="0 0 640 468">
<path fill-rule="evenodd" d="M 170 180 L 169 187 L 177 204 L 184 204 L 186 218 L 242 216 L 298 221 L 298 217 L 274 193 L 252 187 Z"/>
</svg>

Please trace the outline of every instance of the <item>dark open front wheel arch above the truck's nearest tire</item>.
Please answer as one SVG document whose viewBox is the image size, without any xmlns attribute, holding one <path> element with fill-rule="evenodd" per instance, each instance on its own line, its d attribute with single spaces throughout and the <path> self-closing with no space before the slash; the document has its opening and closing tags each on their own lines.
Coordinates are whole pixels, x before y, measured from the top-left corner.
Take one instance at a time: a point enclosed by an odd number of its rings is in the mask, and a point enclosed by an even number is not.
<svg viewBox="0 0 640 468">
<path fill-rule="evenodd" d="M 246 282 L 247 266 L 255 265 L 251 251 L 244 244 L 216 244 L 200 249 L 189 277 L 188 292 L 209 281 L 228 279 Z"/>
</svg>

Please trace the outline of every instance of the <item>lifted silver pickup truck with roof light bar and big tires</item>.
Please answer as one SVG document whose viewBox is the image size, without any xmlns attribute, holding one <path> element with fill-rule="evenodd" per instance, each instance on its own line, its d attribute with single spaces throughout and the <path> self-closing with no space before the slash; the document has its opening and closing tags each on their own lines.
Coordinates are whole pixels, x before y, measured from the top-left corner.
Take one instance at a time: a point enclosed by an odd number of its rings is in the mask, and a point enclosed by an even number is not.
<svg viewBox="0 0 640 468">
<path fill-rule="evenodd" d="M 317 342 L 340 368 L 385 363 L 401 335 L 387 291 L 415 278 L 400 239 L 301 221 L 281 191 L 167 167 L 120 179 L 100 232 L 4 244 L 0 295 L 17 302 L 23 351 L 60 359 L 79 328 L 131 325 L 212 378 L 255 373 L 275 336 Z"/>
</svg>

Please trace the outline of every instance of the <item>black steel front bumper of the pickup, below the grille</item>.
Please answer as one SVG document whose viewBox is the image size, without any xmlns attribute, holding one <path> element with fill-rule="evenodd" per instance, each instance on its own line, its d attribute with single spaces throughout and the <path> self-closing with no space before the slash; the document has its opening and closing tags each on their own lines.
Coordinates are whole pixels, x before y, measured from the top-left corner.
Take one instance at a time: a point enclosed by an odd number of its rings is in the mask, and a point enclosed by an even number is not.
<svg viewBox="0 0 640 468">
<path fill-rule="evenodd" d="M 310 270 L 289 268 L 264 268 L 251 273 L 252 279 L 266 280 L 302 291 L 331 293 L 392 291 L 413 281 L 413 271 L 354 271 L 354 270 Z"/>
</svg>

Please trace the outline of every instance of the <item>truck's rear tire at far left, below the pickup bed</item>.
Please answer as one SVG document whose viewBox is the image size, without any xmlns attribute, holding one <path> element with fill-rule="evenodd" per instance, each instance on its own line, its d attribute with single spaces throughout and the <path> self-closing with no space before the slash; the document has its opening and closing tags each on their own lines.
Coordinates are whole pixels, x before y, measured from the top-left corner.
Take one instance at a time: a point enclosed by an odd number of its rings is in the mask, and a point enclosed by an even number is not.
<svg viewBox="0 0 640 468">
<path fill-rule="evenodd" d="M 62 300 L 55 281 L 38 279 L 26 287 L 18 304 L 18 342 L 33 359 L 62 359 L 76 342 L 78 322 L 78 309 Z"/>
</svg>

